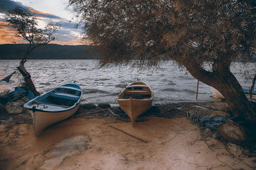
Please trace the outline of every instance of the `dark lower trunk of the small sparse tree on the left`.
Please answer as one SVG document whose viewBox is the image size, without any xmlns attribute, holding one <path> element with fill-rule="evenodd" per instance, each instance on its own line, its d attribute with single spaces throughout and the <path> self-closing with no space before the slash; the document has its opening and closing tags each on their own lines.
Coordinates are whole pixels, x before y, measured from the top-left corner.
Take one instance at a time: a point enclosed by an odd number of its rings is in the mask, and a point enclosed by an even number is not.
<svg viewBox="0 0 256 170">
<path fill-rule="evenodd" d="M 26 60 L 22 59 L 20 61 L 20 65 L 19 67 L 17 67 L 17 69 L 19 69 L 19 72 L 22 74 L 24 81 L 25 81 L 25 87 L 30 90 L 31 92 L 33 92 L 33 94 L 35 96 L 40 96 L 40 93 L 37 92 L 35 85 L 33 83 L 33 81 L 31 80 L 31 76 L 28 73 L 28 71 L 26 71 L 24 64 L 25 64 Z"/>
</svg>

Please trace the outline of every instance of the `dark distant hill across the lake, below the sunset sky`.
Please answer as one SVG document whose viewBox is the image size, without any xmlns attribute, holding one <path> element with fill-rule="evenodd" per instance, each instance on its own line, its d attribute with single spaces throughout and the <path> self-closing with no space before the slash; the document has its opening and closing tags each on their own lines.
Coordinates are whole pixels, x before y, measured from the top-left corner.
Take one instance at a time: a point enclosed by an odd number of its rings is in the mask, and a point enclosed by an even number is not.
<svg viewBox="0 0 256 170">
<path fill-rule="evenodd" d="M 0 45 L 0 59 L 21 59 L 22 51 L 28 44 Z M 95 48 L 89 45 L 56 45 L 48 44 L 38 46 L 28 59 L 99 59 Z"/>
</svg>

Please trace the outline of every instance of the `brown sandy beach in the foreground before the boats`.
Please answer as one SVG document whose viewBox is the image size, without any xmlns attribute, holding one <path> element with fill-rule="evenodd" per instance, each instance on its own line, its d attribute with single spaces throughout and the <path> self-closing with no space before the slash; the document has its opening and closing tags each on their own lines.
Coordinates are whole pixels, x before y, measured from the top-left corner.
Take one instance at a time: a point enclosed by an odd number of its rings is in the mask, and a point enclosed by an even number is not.
<svg viewBox="0 0 256 170">
<path fill-rule="evenodd" d="M 194 108 L 202 109 L 200 107 L 203 105 L 198 105 L 200 104 L 191 104 Z M 186 109 L 186 106 L 188 104 L 183 108 Z M 174 108 L 164 107 L 166 113 Z M 161 113 L 164 114 L 163 110 Z M 77 117 L 79 116 L 48 127 L 37 138 L 33 136 L 33 127 L 28 122 L 0 125 L 0 169 L 256 167 L 255 155 L 240 146 L 223 143 L 216 139 L 215 133 L 203 133 L 198 125 L 191 123 L 184 115 L 172 118 L 144 116 L 134 127 L 130 122 L 111 117 Z"/>
</svg>

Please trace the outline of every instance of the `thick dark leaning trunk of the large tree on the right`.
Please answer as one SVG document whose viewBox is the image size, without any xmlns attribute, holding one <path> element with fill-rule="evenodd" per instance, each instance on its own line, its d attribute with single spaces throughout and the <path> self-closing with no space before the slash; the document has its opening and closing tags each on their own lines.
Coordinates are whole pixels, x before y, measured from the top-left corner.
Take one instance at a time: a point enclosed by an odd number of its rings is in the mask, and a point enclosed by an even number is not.
<svg viewBox="0 0 256 170">
<path fill-rule="evenodd" d="M 232 117 L 243 122 L 256 122 L 256 104 L 248 101 L 243 88 L 229 67 L 220 66 L 216 71 L 205 71 L 195 60 L 180 60 L 189 73 L 197 80 L 217 89 L 227 100 Z"/>
</svg>

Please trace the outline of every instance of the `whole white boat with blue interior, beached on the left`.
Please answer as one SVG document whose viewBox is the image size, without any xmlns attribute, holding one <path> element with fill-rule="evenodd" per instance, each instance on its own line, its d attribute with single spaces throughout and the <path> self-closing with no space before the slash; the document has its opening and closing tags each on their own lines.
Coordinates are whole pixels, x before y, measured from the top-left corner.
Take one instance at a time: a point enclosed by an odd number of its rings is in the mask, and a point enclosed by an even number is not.
<svg viewBox="0 0 256 170">
<path fill-rule="evenodd" d="M 24 108 L 33 118 L 35 136 L 39 136 L 45 127 L 72 116 L 79 108 L 82 96 L 79 85 L 67 83 L 25 103 Z"/>
</svg>

